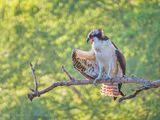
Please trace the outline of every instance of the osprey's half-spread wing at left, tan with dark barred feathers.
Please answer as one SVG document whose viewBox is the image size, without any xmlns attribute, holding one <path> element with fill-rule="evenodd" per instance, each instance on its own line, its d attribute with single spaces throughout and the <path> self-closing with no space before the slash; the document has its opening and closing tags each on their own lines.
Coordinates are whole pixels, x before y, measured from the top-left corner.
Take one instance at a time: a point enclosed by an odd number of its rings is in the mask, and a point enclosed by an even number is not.
<svg viewBox="0 0 160 120">
<path fill-rule="evenodd" d="M 73 49 L 72 62 L 76 70 L 90 80 L 94 80 L 98 75 L 98 65 L 94 51 L 83 51 Z"/>
</svg>

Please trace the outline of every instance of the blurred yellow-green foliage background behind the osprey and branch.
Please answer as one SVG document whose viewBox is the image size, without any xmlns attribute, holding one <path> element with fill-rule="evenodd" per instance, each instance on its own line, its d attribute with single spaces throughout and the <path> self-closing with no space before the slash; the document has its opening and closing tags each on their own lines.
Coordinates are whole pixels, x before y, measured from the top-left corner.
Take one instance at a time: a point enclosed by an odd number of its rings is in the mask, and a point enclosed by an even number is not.
<svg viewBox="0 0 160 120">
<path fill-rule="evenodd" d="M 118 103 L 101 96 L 100 86 L 58 87 L 30 102 L 39 89 L 77 79 L 73 48 L 89 50 L 88 32 L 102 28 L 127 59 L 127 76 L 160 78 L 159 0 L 0 0 L 0 120 L 159 120 L 160 89 Z M 123 86 L 129 94 L 138 85 Z"/>
</svg>

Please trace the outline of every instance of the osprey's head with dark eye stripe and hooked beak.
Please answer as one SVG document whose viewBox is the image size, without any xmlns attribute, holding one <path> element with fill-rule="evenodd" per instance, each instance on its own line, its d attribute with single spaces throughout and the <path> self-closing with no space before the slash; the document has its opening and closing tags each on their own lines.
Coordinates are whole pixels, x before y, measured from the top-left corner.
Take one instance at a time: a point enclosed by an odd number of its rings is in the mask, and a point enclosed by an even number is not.
<svg viewBox="0 0 160 120">
<path fill-rule="evenodd" d="M 89 32 L 88 36 L 87 36 L 87 43 L 93 43 L 94 39 L 97 38 L 99 40 L 104 40 L 104 39 L 108 39 L 108 37 L 104 36 L 104 32 L 102 29 L 95 29 L 92 30 L 91 32 Z"/>
</svg>

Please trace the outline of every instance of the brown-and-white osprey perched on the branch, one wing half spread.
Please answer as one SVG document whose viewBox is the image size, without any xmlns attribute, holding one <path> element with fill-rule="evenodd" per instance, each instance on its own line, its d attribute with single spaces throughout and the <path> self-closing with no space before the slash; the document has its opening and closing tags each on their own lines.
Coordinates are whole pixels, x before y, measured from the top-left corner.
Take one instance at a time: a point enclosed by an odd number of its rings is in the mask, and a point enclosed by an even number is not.
<svg viewBox="0 0 160 120">
<path fill-rule="evenodd" d="M 87 43 L 92 46 L 90 51 L 74 49 L 72 61 L 74 67 L 86 78 L 93 80 L 109 80 L 113 77 L 123 77 L 126 71 L 126 62 L 117 46 L 104 35 L 103 30 L 92 30 L 87 36 Z M 102 84 L 101 94 L 114 97 L 124 96 L 121 83 Z"/>
</svg>

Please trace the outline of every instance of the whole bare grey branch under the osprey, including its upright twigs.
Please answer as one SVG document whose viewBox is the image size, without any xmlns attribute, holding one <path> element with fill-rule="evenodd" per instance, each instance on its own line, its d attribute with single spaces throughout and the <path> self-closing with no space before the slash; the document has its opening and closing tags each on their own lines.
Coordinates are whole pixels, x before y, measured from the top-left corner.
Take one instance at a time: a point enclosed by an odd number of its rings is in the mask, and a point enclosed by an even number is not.
<svg viewBox="0 0 160 120">
<path fill-rule="evenodd" d="M 31 93 L 28 94 L 28 98 L 32 101 L 33 98 L 39 97 L 42 94 L 45 94 L 49 92 L 50 90 L 59 87 L 59 86 L 71 86 L 71 85 L 88 85 L 88 84 L 93 84 L 92 80 L 75 80 L 62 66 L 62 70 L 66 73 L 66 75 L 69 77 L 69 81 L 58 81 L 52 83 L 50 86 L 43 90 L 38 90 L 38 85 L 37 85 L 37 80 L 36 80 L 36 75 L 35 75 L 35 70 L 31 67 L 32 74 L 34 76 L 34 82 L 36 86 L 36 90 L 31 89 Z M 123 100 L 131 99 L 136 97 L 140 92 L 144 90 L 149 90 L 151 88 L 158 88 L 160 87 L 160 80 L 155 80 L 155 81 L 150 81 L 150 80 L 145 80 L 143 78 L 138 78 L 138 77 L 117 77 L 117 78 L 112 78 L 110 80 L 101 80 L 97 81 L 97 84 L 102 84 L 102 83 L 137 83 L 141 84 L 142 86 L 137 88 L 133 94 L 127 95 L 124 97 L 121 97 L 119 99 L 119 102 L 122 102 Z"/>
</svg>

